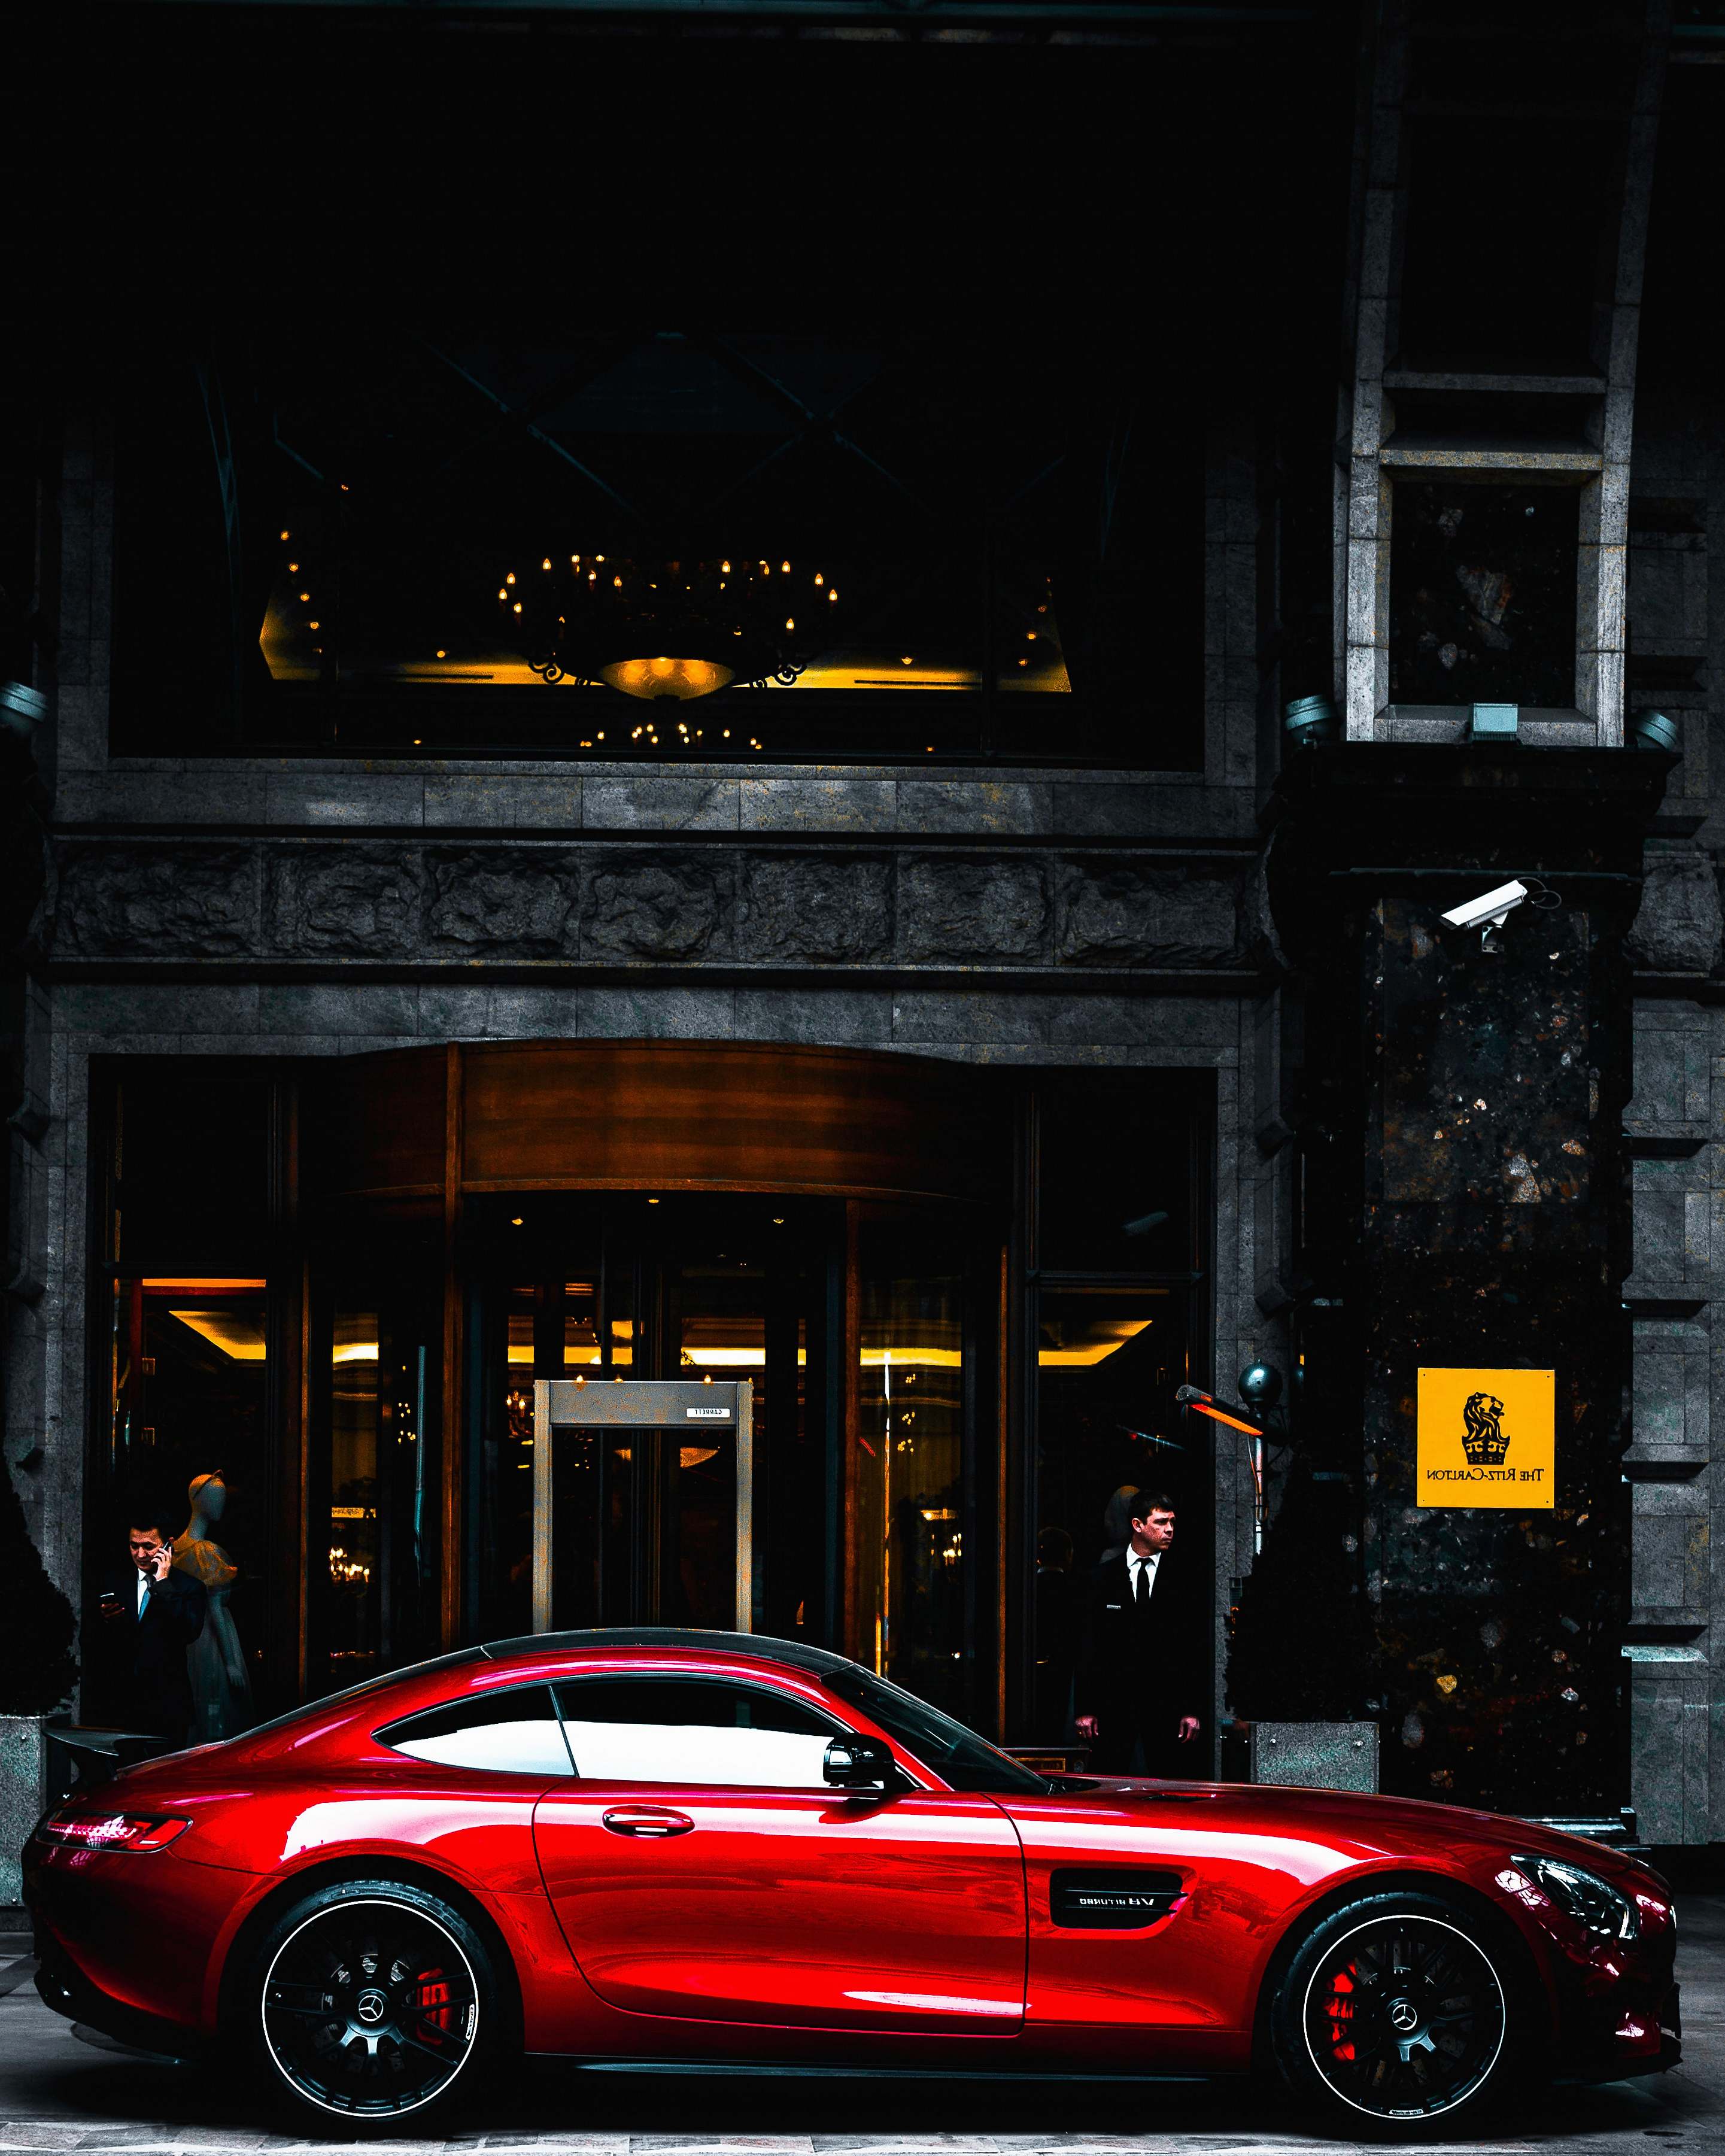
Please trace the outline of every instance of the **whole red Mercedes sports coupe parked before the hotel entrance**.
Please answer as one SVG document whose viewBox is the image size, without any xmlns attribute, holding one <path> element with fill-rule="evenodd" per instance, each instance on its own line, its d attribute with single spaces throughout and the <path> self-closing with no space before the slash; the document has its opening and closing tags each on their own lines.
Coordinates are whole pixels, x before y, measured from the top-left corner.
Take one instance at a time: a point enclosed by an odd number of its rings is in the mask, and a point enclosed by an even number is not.
<svg viewBox="0 0 1725 2156">
<path fill-rule="evenodd" d="M 73 1798 L 43 1999 L 395 2124 L 505 2053 L 921 2074 L 1276 2068 L 1434 2124 L 1678 2057 L 1665 1884 L 1447 1805 L 1048 1779 L 727 1632 L 472 1647 Z"/>
</svg>

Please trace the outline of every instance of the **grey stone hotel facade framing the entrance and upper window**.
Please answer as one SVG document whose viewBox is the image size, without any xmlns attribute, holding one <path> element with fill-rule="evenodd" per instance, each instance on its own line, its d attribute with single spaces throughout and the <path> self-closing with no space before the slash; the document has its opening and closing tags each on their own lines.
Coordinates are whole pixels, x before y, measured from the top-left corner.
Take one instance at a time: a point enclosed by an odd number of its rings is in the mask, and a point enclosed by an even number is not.
<svg viewBox="0 0 1725 2156">
<path fill-rule="evenodd" d="M 1100 19 L 1106 6 L 1046 13 L 1080 50 L 1128 34 Z M 1246 58 L 1246 37 L 1229 65 L 1261 67 L 1264 47 Z M 1227 1393 L 1257 1358 L 1302 1371 L 1298 1414 L 1324 1425 L 1322 1445 L 1298 1419 L 1296 1442 L 1272 1445 L 1264 1507 L 1248 1447 L 1205 1455 L 1216 1723 L 1229 1613 L 1257 1544 L 1268 1550 L 1276 1533 L 1272 1520 L 1264 1537 L 1264 1514 L 1296 1492 L 1311 1498 L 1302 1477 L 1317 1473 L 1346 1492 L 1346 1516 L 1324 1514 L 1313 1548 L 1337 1574 L 1354 1567 L 1378 1656 L 1369 1699 L 1346 1705 L 1382 1716 L 1391 1783 L 1514 1796 L 1468 1753 L 1496 1757 L 1546 1733 L 1568 1744 L 1581 1695 L 1596 1749 L 1587 1761 L 1565 1753 L 1578 1807 L 1634 1807 L 1656 1843 L 1725 1839 L 1708 1440 L 1725 1382 L 1710 1345 L 1725 1235 L 1714 1104 L 1725 957 L 1708 748 L 1725 658 L 1708 533 L 1725 511 L 1725 472 L 1688 259 L 1721 78 L 1688 65 L 1710 47 L 1673 34 L 1656 6 L 1639 22 L 1589 15 L 1565 47 L 1565 88 L 1550 95 L 1540 39 L 1443 9 L 1384 0 L 1365 11 L 1358 47 L 1352 17 L 1320 11 L 1294 50 L 1333 97 L 1341 56 L 1363 54 L 1352 116 L 1346 82 L 1324 108 L 1328 226 L 1307 235 L 1296 278 L 1300 326 L 1324 326 L 1311 330 L 1322 343 L 1339 319 L 1343 334 L 1335 369 L 1315 369 L 1315 401 L 1283 395 L 1272 369 L 1242 367 L 1203 414 L 1190 502 L 1203 558 L 1201 625 L 1190 623 L 1201 755 L 1186 770 L 1048 752 L 684 752 L 675 765 L 244 744 L 116 752 L 125 468 L 112 399 L 84 377 L 52 397 L 43 388 L 54 427 L 34 558 L 52 634 L 30 671 L 47 699 L 32 737 L 45 862 L 15 966 L 4 1447 L 30 1531 L 73 1600 L 86 1595 L 86 1477 L 106 1412 L 91 1337 L 93 1069 L 520 1039 L 1197 1072 L 1214 1084 L 1214 1121 L 1190 1373 Z M 1537 125 L 1561 132 L 1565 99 L 1609 136 L 1609 183 L 1576 194 L 1598 233 L 1576 239 L 1561 203 L 1546 203 L 1563 241 L 1552 278 L 1565 261 L 1591 263 L 1596 237 L 1606 261 L 1602 282 L 1574 295 L 1583 349 L 1557 364 L 1533 338 L 1479 358 L 1462 349 L 1473 332 L 1445 349 L 1432 287 L 1455 257 L 1434 201 L 1438 136 L 1458 112 L 1514 132 L 1535 106 Z M 1570 149 L 1591 160 L 1600 144 Z M 1264 168 L 1253 185 L 1268 185 Z M 1572 222 L 1587 222 L 1581 207 Z M 1455 573 L 1443 548 L 1492 489 L 1514 496 L 1516 515 L 1574 526 L 1550 541 L 1568 548 L 1570 645 L 1552 660 L 1540 621 L 1516 627 L 1572 688 L 1548 694 L 1548 673 L 1529 673 L 1529 692 L 1503 699 L 1520 705 L 1507 742 L 1475 737 L 1471 709 L 1490 696 L 1462 694 L 1447 617 L 1427 623 L 1410 597 L 1417 580 Z M 1397 552 L 1414 548 L 1417 526 L 1427 552 Z M 1542 573 L 1514 569 L 1529 591 Z M 1475 636 L 1490 671 L 1514 645 L 1512 599 L 1477 578 L 1462 591 L 1462 645 Z M 1335 740 L 1296 748 L 1283 705 L 1317 690 L 1333 701 Z M 1632 714 L 1647 707 L 1675 720 L 1678 759 L 1637 735 Z M 1449 1112 L 1434 1078 L 1445 1026 L 1453 1018 L 1462 1039 L 1490 1005 L 1514 1033 L 1516 1011 L 1544 1009 L 1552 983 L 1544 938 L 1535 953 L 1509 936 L 1501 972 L 1464 979 L 1432 916 L 1471 895 L 1471 880 L 1514 873 L 1544 875 L 1568 906 L 1576 940 L 1550 962 L 1591 1065 L 1559 1063 L 1557 1050 L 1540 1063 L 1533 1035 L 1520 1041 L 1524 1128 L 1464 1134 L 1458 1121 L 1455 1151 L 1462 1141 L 1475 1151 L 1445 1186 L 1425 1164 L 1438 1138 L 1419 1121 Z M 1455 1054 L 1473 1054 L 1468 1041 Z M 1546 1171 L 1544 1212 L 1524 1231 L 1542 1143 L 1589 1169 L 1574 1190 L 1552 1190 Z M 1503 1164 L 1529 1158 L 1522 1184 L 1505 1186 Z M 1466 1222 L 1460 1242 L 1445 1244 L 1445 1218 Z M 1512 1287 L 1518 1266 L 1557 1283 L 1537 1317 L 1529 1302 L 1544 1289 Z M 1557 1535 L 1591 1572 L 1581 1617 L 1550 1544 L 1516 1554 L 1468 1520 L 1438 1533 L 1408 1503 L 1408 1356 L 1514 1365 L 1529 1343 L 1585 1371 L 1574 1378 L 1585 1466 Z M 1031 1587 L 1035 1526 L 1016 1520 L 1000 1557 L 1013 1600 Z M 1576 1656 L 1570 1686 L 1512 1669 L 1488 1636 L 1518 1563 L 1540 1602 L 1540 1656 Z M 1432 1611 L 1453 1615 L 1451 1602 L 1468 1621 L 1445 1630 L 1449 1617 Z M 1421 1623 L 1430 1636 L 1414 1636 Z M 1568 1647 L 1570 1634 L 1585 1647 Z M 1026 1733 L 1016 1712 L 1009 1738 Z M 1544 1785 L 1535 1796 L 1561 1809 Z"/>
</svg>

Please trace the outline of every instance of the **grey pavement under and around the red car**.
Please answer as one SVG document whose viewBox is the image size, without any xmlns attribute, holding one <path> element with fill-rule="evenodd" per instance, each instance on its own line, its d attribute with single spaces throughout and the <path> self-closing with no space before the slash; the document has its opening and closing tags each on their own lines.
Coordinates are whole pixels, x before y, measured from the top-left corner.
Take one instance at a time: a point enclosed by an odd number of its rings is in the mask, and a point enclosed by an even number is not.
<svg viewBox="0 0 1725 2156">
<path fill-rule="evenodd" d="M 11 1951 L 9 1951 L 11 1949 Z M 356 2147 L 317 2141 L 261 2091 L 198 2068 L 80 2042 L 30 1984 L 26 1938 L 0 1936 L 0 2156 L 101 2150 L 222 2156 Z M 1684 2065 L 1602 2089 L 1552 2089 L 1466 2156 L 1725 2156 L 1725 1895 L 1678 1899 Z M 591 2074 L 528 2063 L 448 2124 L 448 2139 L 369 2141 L 388 2156 L 1274 2156 L 1350 2150 L 1274 2091 L 1216 2083 L 1009 2083 Z"/>
</svg>

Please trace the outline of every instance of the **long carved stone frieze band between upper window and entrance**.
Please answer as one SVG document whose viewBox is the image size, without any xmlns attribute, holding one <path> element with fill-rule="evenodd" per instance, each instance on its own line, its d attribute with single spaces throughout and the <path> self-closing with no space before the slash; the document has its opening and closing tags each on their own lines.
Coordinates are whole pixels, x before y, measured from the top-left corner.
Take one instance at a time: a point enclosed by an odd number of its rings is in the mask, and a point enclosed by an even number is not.
<svg viewBox="0 0 1725 2156">
<path fill-rule="evenodd" d="M 1248 934 L 1236 884 L 1119 854 L 778 849 L 677 834 L 630 845 L 78 839 L 58 854 L 54 955 L 1218 966 L 1240 962 Z"/>
</svg>

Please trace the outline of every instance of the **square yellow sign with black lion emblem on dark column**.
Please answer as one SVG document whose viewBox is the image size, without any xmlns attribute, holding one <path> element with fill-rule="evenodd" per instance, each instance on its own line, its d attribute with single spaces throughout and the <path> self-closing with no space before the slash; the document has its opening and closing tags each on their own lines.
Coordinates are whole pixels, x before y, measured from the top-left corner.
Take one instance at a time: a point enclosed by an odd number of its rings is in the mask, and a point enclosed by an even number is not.
<svg viewBox="0 0 1725 2156">
<path fill-rule="evenodd" d="M 1550 1505 L 1557 1371 L 1423 1369 L 1414 1462 L 1421 1505 Z"/>
</svg>

